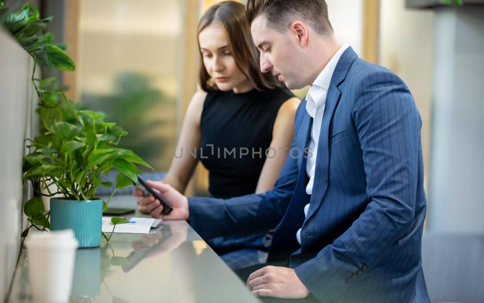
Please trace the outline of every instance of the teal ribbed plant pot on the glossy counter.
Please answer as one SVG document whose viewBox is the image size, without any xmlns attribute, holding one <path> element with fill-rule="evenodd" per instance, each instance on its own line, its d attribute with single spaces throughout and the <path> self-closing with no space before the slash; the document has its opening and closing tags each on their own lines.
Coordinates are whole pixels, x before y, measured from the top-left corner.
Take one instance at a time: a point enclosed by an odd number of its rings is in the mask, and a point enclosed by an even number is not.
<svg viewBox="0 0 484 303">
<path fill-rule="evenodd" d="M 79 248 L 101 244 L 103 200 L 50 199 L 50 230 L 72 229 Z"/>
</svg>

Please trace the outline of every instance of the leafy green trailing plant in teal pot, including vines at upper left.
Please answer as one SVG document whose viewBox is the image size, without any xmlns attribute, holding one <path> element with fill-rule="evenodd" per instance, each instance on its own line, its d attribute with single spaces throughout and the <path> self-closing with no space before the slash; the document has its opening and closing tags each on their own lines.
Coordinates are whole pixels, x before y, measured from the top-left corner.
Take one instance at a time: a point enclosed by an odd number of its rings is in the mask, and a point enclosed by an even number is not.
<svg viewBox="0 0 484 303">
<path fill-rule="evenodd" d="M 111 187 L 103 179 L 113 168 L 120 172 L 116 176 L 115 192 L 137 182 L 136 174 L 140 172 L 135 164 L 151 167 L 132 151 L 116 147 L 121 137 L 127 135 L 116 123 L 106 123 L 101 113 L 76 109 L 61 89 L 52 88 L 55 78 L 34 77 L 37 63 L 64 71 L 75 69 L 74 62 L 64 52 L 65 44 L 53 44 L 54 35 L 42 32 L 52 17 L 40 19 L 39 16 L 31 4 L 26 4 L 18 13 L 7 14 L 0 1 L 2 25 L 33 58 L 31 81 L 39 98 L 37 112 L 44 127 L 41 136 L 26 140 L 29 153 L 24 157 L 22 180 L 31 182 L 35 197 L 24 206 L 31 225 L 22 236 L 26 237 L 30 228 L 70 228 L 76 234 L 79 247 L 96 247 L 101 242 L 102 213 L 112 197 L 107 202 L 96 198 L 96 188 Z M 56 192 L 51 192 L 51 185 L 55 185 Z M 40 197 L 57 194 L 63 198 L 51 199 L 50 211 L 45 212 Z M 127 222 L 123 218 L 111 221 L 114 225 Z M 102 234 L 109 241 L 110 236 Z"/>
</svg>

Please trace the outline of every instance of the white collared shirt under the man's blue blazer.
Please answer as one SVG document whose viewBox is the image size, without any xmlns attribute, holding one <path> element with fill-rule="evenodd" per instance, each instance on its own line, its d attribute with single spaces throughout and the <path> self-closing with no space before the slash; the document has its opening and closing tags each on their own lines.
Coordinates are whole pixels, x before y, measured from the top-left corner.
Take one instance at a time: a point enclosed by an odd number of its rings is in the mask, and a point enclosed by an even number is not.
<svg viewBox="0 0 484 303">
<path fill-rule="evenodd" d="M 311 127 L 311 139 L 309 140 L 309 148 L 313 157 L 306 159 L 306 173 L 309 177 L 309 182 L 306 185 L 306 193 L 308 195 L 313 192 L 314 175 L 316 172 L 316 156 L 318 155 L 318 141 L 319 131 L 321 130 L 321 122 L 323 121 L 324 107 L 326 106 L 326 96 L 330 88 L 331 78 L 336 69 L 341 55 L 348 48 L 348 43 L 345 43 L 333 58 L 328 62 L 323 71 L 318 75 L 313 85 L 309 88 L 306 95 L 306 111 L 313 118 L 313 126 Z M 304 217 L 307 216 L 309 210 L 309 203 L 304 206 Z M 301 229 L 296 233 L 296 238 L 301 244 Z"/>
</svg>

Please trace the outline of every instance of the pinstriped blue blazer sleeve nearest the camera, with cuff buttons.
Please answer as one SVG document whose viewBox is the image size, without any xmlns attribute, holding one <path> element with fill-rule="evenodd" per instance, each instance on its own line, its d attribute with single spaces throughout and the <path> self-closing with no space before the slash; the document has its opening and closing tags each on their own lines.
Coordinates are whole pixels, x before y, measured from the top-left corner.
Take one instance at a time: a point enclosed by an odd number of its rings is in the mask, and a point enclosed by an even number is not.
<svg viewBox="0 0 484 303">
<path fill-rule="evenodd" d="M 347 279 L 363 267 L 378 266 L 382 253 L 415 224 L 422 126 L 415 102 L 405 83 L 383 69 L 363 75 L 354 91 L 352 118 L 369 201 L 347 231 L 295 268 L 302 283 L 323 301 L 355 288 Z"/>
</svg>

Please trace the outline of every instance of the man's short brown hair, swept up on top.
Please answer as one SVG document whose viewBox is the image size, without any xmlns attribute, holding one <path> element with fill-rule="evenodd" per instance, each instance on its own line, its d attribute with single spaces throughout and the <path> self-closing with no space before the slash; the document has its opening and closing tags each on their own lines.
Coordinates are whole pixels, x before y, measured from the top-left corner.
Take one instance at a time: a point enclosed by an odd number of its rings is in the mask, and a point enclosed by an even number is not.
<svg viewBox="0 0 484 303">
<path fill-rule="evenodd" d="M 286 32 L 296 15 L 307 20 L 319 34 L 333 34 L 325 0 L 248 0 L 245 14 L 250 24 L 258 15 L 265 14 L 269 26 L 280 32 Z"/>
</svg>

